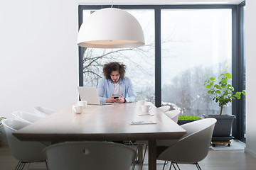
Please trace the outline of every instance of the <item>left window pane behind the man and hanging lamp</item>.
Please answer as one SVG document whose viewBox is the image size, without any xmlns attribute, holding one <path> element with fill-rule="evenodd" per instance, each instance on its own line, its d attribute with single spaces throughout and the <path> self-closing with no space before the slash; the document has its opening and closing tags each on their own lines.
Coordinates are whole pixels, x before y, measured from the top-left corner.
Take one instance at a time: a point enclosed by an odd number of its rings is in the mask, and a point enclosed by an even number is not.
<svg viewBox="0 0 256 170">
<path fill-rule="evenodd" d="M 145 45 L 125 49 L 84 48 L 84 86 L 97 86 L 102 75 L 102 66 L 107 62 L 122 62 L 127 65 L 126 76 L 132 79 L 137 100 L 154 103 L 154 10 L 126 10 L 132 14 L 144 30 Z M 92 11 L 84 10 L 83 18 Z"/>
</svg>

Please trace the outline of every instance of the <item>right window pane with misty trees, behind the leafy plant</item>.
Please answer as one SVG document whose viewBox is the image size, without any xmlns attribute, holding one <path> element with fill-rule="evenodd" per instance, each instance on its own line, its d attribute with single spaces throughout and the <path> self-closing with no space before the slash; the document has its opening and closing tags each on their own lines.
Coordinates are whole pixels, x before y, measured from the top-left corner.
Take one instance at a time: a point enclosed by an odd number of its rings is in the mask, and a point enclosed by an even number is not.
<svg viewBox="0 0 256 170">
<path fill-rule="evenodd" d="M 231 73 L 231 17 L 231 9 L 161 11 L 162 104 L 174 103 L 186 115 L 219 113 L 203 74 L 218 77 L 227 65 Z"/>
</svg>

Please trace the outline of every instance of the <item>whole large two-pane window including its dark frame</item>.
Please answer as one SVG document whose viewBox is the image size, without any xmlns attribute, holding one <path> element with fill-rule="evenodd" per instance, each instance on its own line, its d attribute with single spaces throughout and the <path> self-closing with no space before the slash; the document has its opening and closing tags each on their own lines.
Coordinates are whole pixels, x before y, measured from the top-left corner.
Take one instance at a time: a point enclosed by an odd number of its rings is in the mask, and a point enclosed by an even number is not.
<svg viewBox="0 0 256 170">
<path fill-rule="evenodd" d="M 218 77 L 228 65 L 235 90 L 245 89 L 243 37 L 239 36 L 243 33 L 239 15 L 245 8 L 241 6 L 116 6 L 137 18 L 146 45 L 108 50 L 79 47 L 79 85 L 97 86 L 105 63 L 122 62 L 127 65 L 126 75 L 132 79 L 138 100 L 151 101 L 156 106 L 171 105 L 186 115 L 218 113 L 218 105 L 203 86 L 203 74 L 209 72 Z M 79 6 L 79 26 L 90 13 L 107 7 L 110 6 Z M 236 139 L 245 137 L 243 101 L 234 102 L 224 111 L 237 116 L 233 123 Z"/>
</svg>

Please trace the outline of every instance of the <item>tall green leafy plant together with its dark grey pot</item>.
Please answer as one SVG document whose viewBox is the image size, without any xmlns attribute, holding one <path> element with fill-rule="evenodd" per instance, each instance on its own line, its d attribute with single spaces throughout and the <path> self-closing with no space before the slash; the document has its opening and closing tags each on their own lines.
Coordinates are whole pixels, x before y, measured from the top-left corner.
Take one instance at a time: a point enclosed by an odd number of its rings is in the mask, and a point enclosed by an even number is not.
<svg viewBox="0 0 256 170">
<path fill-rule="evenodd" d="M 218 79 L 210 77 L 208 73 L 204 74 L 204 76 L 207 77 L 204 85 L 208 89 L 208 94 L 213 96 L 213 101 L 220 106 L 219 115 L 203 115 L 204 118 L 217 119 L 213 130 L 212 141 L 228 142 L 233 139 L 233 137 L 230 136 L 230 131 L 235 115 L 223 115 L 223 107 L 227 106 L 228 103 L 234 99 L 240 99 L 242 94 L 245 95 L 245 91 L 234 92 L 234 88 L 230 84 L 232 76 L 227 72 L 227 68 L 228 67 L 226 67 L 224 73 L 220 74 Z M 228 146 L 230 146 L 230 142 L 228 142 Z"/>
</svg>

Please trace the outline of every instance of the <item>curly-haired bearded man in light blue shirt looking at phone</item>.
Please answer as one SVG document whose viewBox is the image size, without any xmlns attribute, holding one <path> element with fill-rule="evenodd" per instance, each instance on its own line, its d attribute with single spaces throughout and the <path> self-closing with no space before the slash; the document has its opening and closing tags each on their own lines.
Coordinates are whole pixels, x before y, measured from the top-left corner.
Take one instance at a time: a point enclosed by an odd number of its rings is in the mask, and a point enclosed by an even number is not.
<svg viewBox="0 0 256 170">
<path fill-rule="evenodd" d="M 100 103 L 126 103 L 136 101 L 132 81 L 124 77 L 126 66 L 118 62 L 104 65 L 103 74 L 97 86 Z"/>
</svg>

